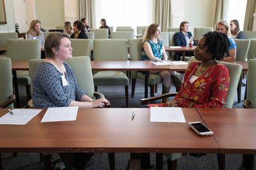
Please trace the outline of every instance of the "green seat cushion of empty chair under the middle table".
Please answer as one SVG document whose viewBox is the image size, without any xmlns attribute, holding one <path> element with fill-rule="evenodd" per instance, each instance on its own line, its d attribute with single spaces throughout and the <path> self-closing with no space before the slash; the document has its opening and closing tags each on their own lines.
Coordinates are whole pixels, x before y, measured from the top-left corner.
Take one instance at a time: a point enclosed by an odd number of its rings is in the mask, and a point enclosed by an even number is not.
<svg viewBox="0 0 256 170">
<path fill-rule="evenodd" d="M 129 85 L 129 78 L 122 71 L 99 71 L 93 75 L 95 86 Z"/>
</svg>

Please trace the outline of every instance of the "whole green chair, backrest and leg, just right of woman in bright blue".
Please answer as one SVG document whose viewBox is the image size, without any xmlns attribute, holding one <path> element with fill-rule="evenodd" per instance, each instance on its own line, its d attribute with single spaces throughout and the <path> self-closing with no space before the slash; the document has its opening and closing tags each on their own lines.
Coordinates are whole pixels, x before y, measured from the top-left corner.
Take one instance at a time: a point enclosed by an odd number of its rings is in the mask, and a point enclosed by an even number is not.
<svg viewBox="0 0 256 170">
<path fill-rule="evenodd" d="M 236 49 L 236 60 L 237 61 L 245 61 L 247 60 L 247 54 L 250 47 L 250 40 L 249 39 L 234 39 L 237 45 Z M 242 90 L 242 79 L 243 73 L 241 74 L 241 78 L 237 87 L 237 101 L 238 103 L 241 102 L 241 90 Z"/>
</svg>

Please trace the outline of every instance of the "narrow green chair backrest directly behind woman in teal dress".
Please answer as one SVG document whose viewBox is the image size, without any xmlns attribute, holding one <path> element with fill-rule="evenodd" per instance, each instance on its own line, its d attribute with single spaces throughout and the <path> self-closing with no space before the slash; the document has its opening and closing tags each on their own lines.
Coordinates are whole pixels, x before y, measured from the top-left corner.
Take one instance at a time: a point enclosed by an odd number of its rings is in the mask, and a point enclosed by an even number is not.
<svg viewBox="0 0 256 170">
<path fill-rule="evenodd" d="M 142 38 L 128 39 L 131 60 L 141 59 Z"/>
</svg>

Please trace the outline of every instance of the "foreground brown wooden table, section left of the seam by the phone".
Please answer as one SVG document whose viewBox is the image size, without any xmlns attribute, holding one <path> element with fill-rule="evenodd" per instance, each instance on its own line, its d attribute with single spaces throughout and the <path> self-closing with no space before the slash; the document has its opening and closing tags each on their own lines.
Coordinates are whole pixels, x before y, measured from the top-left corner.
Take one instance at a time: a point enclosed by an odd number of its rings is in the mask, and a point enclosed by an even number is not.
<svg viewBox="0 0 256 170">
<path fill-rule="evenodd" d="M 203 122 L 195 108 L 182 108 L 186 123 L 150 122 L 149 108 L 79 109 L 76 121 L 41 123 L 45 111 L 26 125 L 0 125 L 0 153 L 220 153 L 213 136 L 189 127 Z"/>
</svg>

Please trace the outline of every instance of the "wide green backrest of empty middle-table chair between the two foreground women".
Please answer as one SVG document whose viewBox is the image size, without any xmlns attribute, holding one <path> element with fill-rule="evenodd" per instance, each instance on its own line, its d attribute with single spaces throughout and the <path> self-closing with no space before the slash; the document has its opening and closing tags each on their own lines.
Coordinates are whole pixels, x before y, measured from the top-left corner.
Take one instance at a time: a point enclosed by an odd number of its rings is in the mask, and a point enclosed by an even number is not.
<svg viewBox="0 0 256 170">
<path fill-rule="evenodd" d="M 127 39 L 94 39 L 93 60 L 127 59 Z"/>
</svg>

